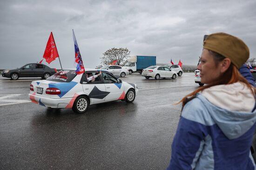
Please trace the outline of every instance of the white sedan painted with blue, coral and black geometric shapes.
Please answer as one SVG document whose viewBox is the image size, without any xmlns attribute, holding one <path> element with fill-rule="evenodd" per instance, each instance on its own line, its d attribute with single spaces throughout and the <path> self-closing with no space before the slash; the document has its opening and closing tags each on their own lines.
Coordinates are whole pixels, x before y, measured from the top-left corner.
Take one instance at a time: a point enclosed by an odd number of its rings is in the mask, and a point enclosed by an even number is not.
<svg viewBox="0 0 256 170">
<path fill-rule="evenodd" d="M 88 75 L 97 75 L 99 70 L 86 69 Z M 72 108 L 84 113 L 89 105 L 108 101 L 133 102 L 138 93 L 136 84 L 122 82 L 108 71 L 94 81 L 88 82 L 86 74 L 77 75 L 74 69 L 59 71 L 47 80 L 33 81 L 29 98 L 33 103 L 51 108 Z"/>
</svg>

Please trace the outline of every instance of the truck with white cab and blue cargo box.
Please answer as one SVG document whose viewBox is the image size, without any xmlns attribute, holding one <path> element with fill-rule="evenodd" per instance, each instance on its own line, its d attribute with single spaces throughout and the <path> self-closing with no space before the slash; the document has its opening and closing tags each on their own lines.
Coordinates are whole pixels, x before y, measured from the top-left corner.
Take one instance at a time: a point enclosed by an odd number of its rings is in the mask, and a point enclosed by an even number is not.
<svg viewBox="0 0 256 170">
<path fill-rule="evenodd" d="M 142 69 L 152 65 L 156 65 L 156 56 L 131 56 L 122 69 L 127 69 L 129 74 L 134 72 L 142 73 Z"/>
</svg>

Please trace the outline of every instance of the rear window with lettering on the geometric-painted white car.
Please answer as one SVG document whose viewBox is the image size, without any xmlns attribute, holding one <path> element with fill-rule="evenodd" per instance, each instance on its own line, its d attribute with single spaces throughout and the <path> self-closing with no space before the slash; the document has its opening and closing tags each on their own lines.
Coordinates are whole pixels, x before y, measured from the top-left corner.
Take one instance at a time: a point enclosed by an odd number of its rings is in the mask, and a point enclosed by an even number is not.
<svg viewBox="0 0 256 170">
<path fill-rule="evenodd" d="M 61 70 L 53 76 L 47 78 L 47 81 L 53 82 L 71 82 L 77 74 L 74 70 Z"/>
</svg>

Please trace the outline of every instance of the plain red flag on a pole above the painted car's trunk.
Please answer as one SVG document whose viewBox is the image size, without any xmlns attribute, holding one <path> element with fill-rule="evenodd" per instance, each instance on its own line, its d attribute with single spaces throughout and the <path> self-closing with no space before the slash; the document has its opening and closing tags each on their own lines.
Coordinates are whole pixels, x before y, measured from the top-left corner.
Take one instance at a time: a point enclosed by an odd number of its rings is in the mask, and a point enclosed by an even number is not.
<svg viewBox="0 0 256 170">
<path fill-rule="evenodd" d="M 57 57 L 59 57 L 59 54 L 54 41 L 53 32 L 51 32 L 48 42 L 46 44 L 43 58 L 45 58 L 46 62 L 49 64 Z"/>
</svg>

